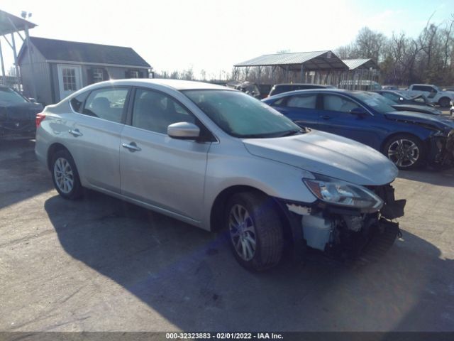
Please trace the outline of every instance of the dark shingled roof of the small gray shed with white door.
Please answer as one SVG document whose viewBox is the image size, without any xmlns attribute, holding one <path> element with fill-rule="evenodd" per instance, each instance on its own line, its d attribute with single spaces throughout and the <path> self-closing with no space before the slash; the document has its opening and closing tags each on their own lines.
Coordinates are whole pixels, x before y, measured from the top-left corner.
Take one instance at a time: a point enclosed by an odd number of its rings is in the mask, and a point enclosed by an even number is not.
<svg viewBox="0 0 454 341">
<path fill-rule="evenodd" d="M 30 37 L 30 40 L 46 60 L 150 67 L 132 48 L 38 37 Z M 19 60 L 24 49 L 25 44 L 19 52 Z"/>
</svg>

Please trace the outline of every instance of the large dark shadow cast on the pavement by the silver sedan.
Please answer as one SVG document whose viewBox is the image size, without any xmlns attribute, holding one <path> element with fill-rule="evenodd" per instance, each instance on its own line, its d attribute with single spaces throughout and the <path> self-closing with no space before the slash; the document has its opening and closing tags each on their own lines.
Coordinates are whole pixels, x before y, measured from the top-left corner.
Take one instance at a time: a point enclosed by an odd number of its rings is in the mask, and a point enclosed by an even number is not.
<svg viewBox="0 0 454 341">
<path fill-rule="evenodd" d="M 106 195 L 45 210 L 67 254 L 182 330 L 454 330 L 453 261 L 408 232 L 375 264 L 311 255 L 251 274 L 222 234 Z"/>
</svg>

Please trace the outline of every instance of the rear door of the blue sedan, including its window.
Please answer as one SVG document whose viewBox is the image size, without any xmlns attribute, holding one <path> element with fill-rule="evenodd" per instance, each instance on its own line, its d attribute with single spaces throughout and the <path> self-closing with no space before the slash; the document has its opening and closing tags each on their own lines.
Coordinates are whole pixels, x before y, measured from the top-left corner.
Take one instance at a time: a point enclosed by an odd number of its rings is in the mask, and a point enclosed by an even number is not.
<svg viewBox="0 0 454 341">
<path fill-rule="evenodd" d="M 319 95 L 316 92 L 309 92 L 306 94 L 293 94 L 282 97 L 271 105 L 278 112 L 281 112 L 299 126 L 318 129 L 318 100 Z"/>
</svg>

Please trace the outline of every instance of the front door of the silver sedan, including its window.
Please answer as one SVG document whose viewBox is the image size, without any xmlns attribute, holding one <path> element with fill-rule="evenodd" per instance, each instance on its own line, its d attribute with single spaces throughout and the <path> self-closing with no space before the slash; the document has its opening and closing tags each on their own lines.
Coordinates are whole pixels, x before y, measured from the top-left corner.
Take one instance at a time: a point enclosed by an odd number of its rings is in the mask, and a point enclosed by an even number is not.
<svg viewBox="0 0 454 341">
<path fill-rule="evenodd" d="M 210 142 L 172 139 L 167 126 L 199 124 L 169 94 L 136 88 L 121 134 L 121 193 L 199 222 Z"/>
</svg>

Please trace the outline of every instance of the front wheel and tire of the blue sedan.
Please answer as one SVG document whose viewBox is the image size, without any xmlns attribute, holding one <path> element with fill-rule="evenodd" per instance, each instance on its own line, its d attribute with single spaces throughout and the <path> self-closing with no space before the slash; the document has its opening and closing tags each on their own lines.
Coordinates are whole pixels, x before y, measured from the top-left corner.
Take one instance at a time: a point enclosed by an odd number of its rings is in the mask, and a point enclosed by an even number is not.
<svg viewBox="0 0 454 341">
<path fill-rule="evenodd" d="M 392 136 L 384 144 L 383 153 L 402 170 L 416 169 L 426 162 L 426 149 L 423 143 L 416 136 L 409 134 Z"/>
</svg>

